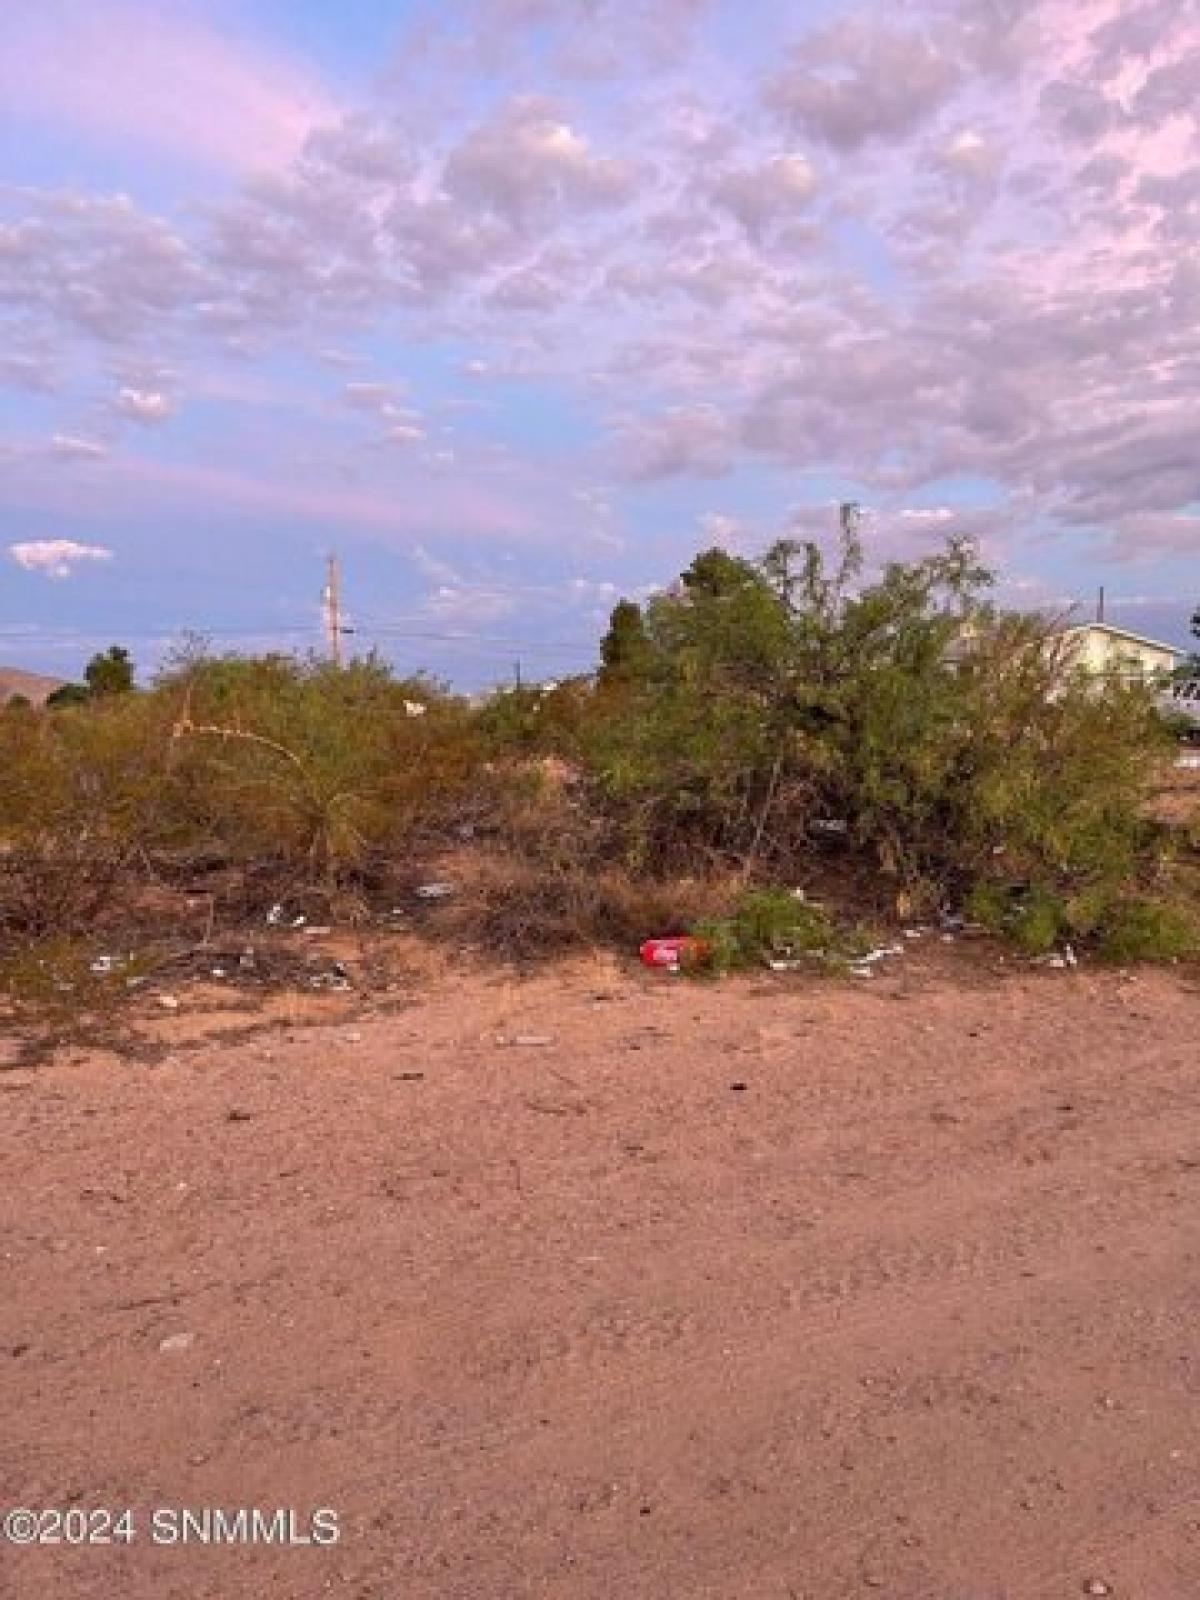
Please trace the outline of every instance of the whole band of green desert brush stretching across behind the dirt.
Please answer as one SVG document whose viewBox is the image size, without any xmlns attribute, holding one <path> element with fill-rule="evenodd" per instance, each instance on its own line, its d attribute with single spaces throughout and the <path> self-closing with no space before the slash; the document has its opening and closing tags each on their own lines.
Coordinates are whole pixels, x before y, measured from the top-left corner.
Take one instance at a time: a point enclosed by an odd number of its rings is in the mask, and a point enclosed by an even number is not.
<svg viewBox="0 0 1200 1600">
<path fill-rule="evenodd" d="M 1150 694 L 1070 670 L 963 542 L 872 581 L 853 534 L 834 562 L 704 552 L 618 606 L 595 682 L 482 707 L 376 658 L 189 648 L 141 691 L 104 661 L 110 693 L 0 717 L 0 939 L 78 931 L 139 874 L 357 893 L 470 835 L 496 944 L 538 942 L 539 893 L 563 938 L 626 938 L 638 894 L 670 920 L 672 894 L 712 909 L 685 882 L 826 872 L 830 904 L 966 906 L 1030 954 L 1189 949 L 1154 901 L 1186 891 L 1142 821 L 1170 747 Z M 717 965 L 853 947 L 786 893 L 709 923 Z"/>
</svg>

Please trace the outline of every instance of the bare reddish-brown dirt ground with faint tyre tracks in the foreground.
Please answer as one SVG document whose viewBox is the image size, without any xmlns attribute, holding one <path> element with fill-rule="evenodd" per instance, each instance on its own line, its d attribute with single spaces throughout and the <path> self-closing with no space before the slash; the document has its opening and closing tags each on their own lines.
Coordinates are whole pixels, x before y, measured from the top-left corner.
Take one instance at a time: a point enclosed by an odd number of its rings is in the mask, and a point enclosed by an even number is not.
<svg viewBox="0 0 1200 1600">
<path fill-rule="evenodd" d="M 0 1501 L 134 1538 L 0 1592 L 1195 1600 L 1195 973 L 952 954 L 10 1062 Z M 213 1506 L 341 1539 L 152 1541 Z"/>
</svg>

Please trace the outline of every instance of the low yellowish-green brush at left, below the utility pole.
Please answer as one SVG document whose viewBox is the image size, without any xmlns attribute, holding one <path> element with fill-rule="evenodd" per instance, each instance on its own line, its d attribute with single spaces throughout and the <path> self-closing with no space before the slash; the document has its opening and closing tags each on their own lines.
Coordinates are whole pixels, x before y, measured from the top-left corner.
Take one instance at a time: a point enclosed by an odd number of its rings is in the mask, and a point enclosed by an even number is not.
<svg viewBox="0 0 1200 1600">
<path fill-rule="evenodd" d="M 146 693 L 0 718 L 0 936 L 78 930 L 131 874 L 198 859 L 272 898 L 347 883 L 469 813 L 480 760 L 459 701 L 374 661 L 194 654 Z"/>
</svg>

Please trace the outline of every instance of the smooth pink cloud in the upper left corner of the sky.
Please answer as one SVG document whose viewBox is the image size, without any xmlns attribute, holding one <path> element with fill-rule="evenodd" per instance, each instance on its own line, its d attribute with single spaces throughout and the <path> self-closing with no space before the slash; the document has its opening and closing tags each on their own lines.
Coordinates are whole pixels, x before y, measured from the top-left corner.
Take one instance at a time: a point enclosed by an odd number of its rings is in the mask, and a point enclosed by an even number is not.
<svg viewBox="0 0 1200 1600">
<path fill-rule="evenodd" d="M 286 163 L 336 117 L 315 74 L 189 5 L 6 0 L 3 11 L 0 102 L 14 118 L 250 173 Z"/>
</svg>

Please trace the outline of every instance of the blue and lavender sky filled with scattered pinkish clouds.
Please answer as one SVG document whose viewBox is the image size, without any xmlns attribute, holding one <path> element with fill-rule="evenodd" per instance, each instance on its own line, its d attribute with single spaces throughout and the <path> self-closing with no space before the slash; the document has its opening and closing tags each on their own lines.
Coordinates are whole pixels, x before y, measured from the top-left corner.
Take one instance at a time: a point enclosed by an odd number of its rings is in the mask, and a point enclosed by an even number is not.
<svg viewBox="0 0 1200 1600">
<path fill-rule="evenodd" d="M 0 662 L 582 670 L 702 547 L 1200 602 L 1197 0 L 3 0 Z"/>
</svg>

